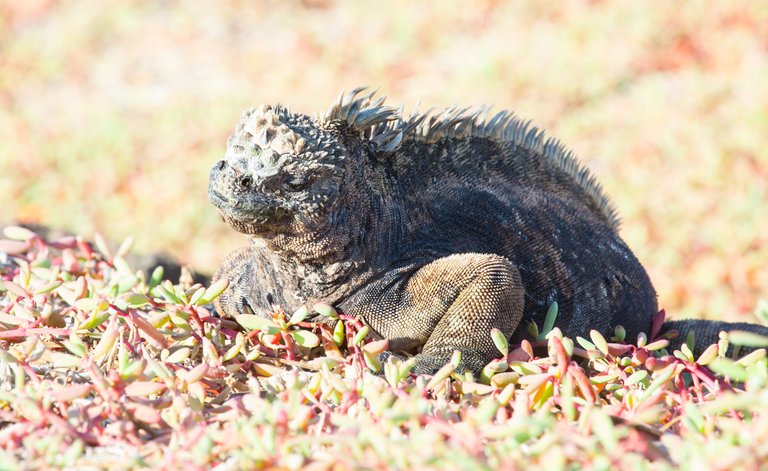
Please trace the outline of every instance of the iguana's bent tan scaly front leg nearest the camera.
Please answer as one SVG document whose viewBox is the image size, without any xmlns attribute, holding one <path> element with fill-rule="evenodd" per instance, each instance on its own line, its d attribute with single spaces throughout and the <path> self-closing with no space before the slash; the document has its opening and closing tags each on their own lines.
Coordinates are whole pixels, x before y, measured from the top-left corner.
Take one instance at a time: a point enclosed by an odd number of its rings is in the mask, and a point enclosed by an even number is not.
<svg viewBox="0 0 768 471">
<path fill-rule="evenodd" d="M 434 373 L 461 351 L 459 371 L 479 372 L 499 356 L 492 328 L 510 337 L 523 316 L 523 285 L 515 266 L 492 254 L 456 254 L 368 293 L 359 315 L 393 349 L 423 345 L 416 373 Z M 357 310 L 357 309 L 354 309 Z"/>
</svg>

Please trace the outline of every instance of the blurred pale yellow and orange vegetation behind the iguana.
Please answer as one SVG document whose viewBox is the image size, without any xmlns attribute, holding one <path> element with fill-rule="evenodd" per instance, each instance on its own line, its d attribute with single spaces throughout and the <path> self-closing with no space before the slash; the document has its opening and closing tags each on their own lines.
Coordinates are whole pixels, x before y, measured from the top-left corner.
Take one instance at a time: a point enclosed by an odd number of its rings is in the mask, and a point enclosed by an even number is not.
<svg viewBox="0 0 768 471">
<path fill-rule="evenodd" d="M 381 88 L 496 105 L 574 149 L 674 317 L 768 297 L 768 2 L 0 0 L 0 224 L 137 239 L 212 271 L 240 112 Z"/>
</svg>

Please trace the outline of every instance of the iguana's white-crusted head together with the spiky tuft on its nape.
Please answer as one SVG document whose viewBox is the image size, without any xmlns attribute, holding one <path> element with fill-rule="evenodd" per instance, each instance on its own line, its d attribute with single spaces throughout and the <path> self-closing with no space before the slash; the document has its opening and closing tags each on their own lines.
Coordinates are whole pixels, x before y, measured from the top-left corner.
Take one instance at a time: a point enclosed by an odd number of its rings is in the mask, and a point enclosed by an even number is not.
<svg viewBox="0 0 768 471">
<path fill-rule="evenodd" d="M 210 174 L 208 198 L 222 219 L 255 236 L 323 227 L 350 159 L 371 148 L 359 130 L 392 120 L 392 108 L 360 91 L 343 95 L 319 118 L 280 105 L 247 110 Z"/>
</svg>

